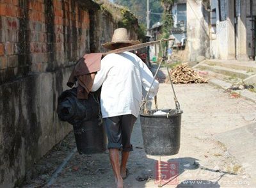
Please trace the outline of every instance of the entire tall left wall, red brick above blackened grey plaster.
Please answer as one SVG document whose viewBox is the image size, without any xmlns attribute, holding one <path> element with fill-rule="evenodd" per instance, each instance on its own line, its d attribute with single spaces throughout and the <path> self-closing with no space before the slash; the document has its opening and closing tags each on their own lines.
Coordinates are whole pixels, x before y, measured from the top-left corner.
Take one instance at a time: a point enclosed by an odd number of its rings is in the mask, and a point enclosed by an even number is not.
<svg viewBox="0 0 256 188">
<path fill-rule="evenodd" d="M 19 185 L 72 130 L 58 96 L 77 59 L 103 50 L 116 27 L 89 0 L 0 1 L 0 187 Z"/>
</svg>

